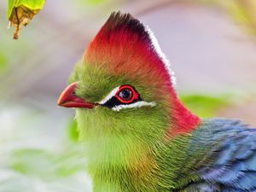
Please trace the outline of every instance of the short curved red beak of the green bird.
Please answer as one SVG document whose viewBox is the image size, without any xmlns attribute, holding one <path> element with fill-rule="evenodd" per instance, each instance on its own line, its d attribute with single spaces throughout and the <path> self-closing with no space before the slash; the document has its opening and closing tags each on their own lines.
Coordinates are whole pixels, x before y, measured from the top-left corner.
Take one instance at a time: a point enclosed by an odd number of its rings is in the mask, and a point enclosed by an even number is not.
<svg viewBox="0 0 256 192">
<path fill-rule="evenodd" d="M 69 84 L 67 88 L 62 91 L 57 105 L 64 108 L 94 108 L 96 104 L 86 102 L 83 98 L 75 95 L 75 90 L 78 86 L 78 82 Z"/>
</svg>

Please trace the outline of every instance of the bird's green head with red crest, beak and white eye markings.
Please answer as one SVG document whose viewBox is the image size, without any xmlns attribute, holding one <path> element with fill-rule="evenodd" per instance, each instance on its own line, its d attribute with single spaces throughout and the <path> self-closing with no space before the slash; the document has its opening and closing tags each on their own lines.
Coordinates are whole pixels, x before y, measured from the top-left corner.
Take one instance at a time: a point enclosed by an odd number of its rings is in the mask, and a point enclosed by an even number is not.
<svg viewBox="0 0 256 192">
<path fill-rule="evenodd" d="M 108 141 L 124 151 L 147 148 L 200 122 L 179 102 L 174 81 L 148 27 L 113 13 L 76 65 L 58 105 L 76 108 L 84 140 L 102 148 Z"/>
</svg>

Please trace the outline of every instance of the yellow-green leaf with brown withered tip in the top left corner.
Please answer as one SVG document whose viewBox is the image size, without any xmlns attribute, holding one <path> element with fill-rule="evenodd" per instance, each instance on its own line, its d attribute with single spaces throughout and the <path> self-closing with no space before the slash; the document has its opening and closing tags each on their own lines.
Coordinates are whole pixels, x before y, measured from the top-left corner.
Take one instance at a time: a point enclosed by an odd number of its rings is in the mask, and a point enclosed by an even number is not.
<svg viewBox="0 0 256 192">
<path fill-rule="evenodd" d="M 20 27 L 26 26 L 43 9 L 45 0 L 9 0 L 9 26 L 15 26 L 14 39 L 19 38 Z"/>
</svg>

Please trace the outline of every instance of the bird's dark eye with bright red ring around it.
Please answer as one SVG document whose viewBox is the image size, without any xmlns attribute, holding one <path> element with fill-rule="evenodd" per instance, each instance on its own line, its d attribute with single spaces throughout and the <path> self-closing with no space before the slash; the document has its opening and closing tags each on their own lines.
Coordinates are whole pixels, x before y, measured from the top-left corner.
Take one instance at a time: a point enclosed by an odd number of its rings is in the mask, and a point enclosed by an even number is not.
<svg viewBox="0 0 256 192">
<path fill-rule="evenodd" d="M 122 85 L 116 93 L 119 102 L 131 103 L 139 98 L 137 91 L 130 85 Z"/>
</svg>

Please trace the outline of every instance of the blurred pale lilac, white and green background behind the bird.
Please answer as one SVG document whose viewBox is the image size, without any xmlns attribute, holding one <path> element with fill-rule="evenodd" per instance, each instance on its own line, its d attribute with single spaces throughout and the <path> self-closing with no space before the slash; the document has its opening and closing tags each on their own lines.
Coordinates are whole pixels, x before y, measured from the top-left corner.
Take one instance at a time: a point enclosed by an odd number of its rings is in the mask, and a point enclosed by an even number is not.
<svg viewBox="0 0 256 192">
<path fill-rule="evenodd" d="M 73 65 L 113 10 L 154 32 L 177 92 L 202 117 L 256 126 L 254 0 L 48 0 L 7 30 L 0 2 L 0 192 L 90 192 L 74 111 L 56 107 Z"/>
</svg>

